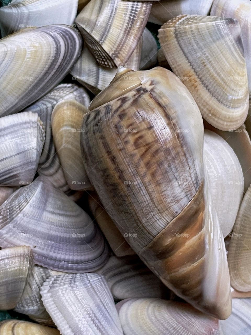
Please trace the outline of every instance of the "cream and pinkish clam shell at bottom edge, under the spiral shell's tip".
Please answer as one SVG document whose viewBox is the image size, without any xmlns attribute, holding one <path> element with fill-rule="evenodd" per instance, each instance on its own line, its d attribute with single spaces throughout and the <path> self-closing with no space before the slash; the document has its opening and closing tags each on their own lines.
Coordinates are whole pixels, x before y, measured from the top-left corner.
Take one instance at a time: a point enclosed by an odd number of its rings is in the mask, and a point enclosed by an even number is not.
<svg viewBox="0 0 251 335">
<path fill-rule="evenodd" d="M 220 335 L 218 320 L 188 304 L 141 298 L 116 307 L 124 335 Z"/>
</svg>

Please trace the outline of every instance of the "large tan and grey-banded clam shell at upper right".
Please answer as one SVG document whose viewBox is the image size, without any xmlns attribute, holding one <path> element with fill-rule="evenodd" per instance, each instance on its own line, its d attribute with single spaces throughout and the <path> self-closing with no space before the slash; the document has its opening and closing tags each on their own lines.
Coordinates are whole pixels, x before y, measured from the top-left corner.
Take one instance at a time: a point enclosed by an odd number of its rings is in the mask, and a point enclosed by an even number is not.
<svg viewBox="0 0 251 335">
<path fill-rule="evenodd" d="M 159 29 L 173 72 L 216 128 L 240 127 L 248 112 L 248 81 L 241 30 L 229 18 L 179 15 Z"/>
</svg>

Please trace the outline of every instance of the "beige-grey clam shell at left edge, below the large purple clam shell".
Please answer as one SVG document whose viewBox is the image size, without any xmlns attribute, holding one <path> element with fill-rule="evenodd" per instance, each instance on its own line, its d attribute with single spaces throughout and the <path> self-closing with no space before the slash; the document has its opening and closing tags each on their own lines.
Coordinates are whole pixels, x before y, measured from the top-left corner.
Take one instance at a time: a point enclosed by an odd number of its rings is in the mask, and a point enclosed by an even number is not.
<svg viewBox="0 0 251 335">
<path fill-rule="evenodd" d="M 31 264 L 30 247 L 0 250 L 0 310 L 10 310 L 16 306 L 23 293 Z"/>
</svg>

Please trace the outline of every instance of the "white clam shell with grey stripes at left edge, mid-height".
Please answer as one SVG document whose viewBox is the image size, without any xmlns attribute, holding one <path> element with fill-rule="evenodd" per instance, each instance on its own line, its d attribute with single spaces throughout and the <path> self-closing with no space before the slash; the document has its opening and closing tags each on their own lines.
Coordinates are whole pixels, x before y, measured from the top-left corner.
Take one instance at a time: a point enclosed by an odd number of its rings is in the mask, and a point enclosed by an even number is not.
<svg viewBox="0 0 251 335">
<path fill-rule="evenodd" d="M 37 114 L 0 118 L 0 185 L 27 185 L 34 179 L 45 130 Z"/>
</svg>

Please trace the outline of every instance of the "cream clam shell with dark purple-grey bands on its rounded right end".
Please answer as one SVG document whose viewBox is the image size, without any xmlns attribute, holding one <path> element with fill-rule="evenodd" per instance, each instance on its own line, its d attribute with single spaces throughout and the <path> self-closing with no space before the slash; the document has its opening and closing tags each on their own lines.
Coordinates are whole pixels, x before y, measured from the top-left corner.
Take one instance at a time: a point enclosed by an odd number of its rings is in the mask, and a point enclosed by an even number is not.
<svg viewBox="0 0 251 335">
<path fill-rule="evenodd" d="M 22 29 L 0 40 L 0 115 L 19 112 L 49 92 L 74 65 L 81 47 L 79 32 L 61 24 Z"/>
</svg>

